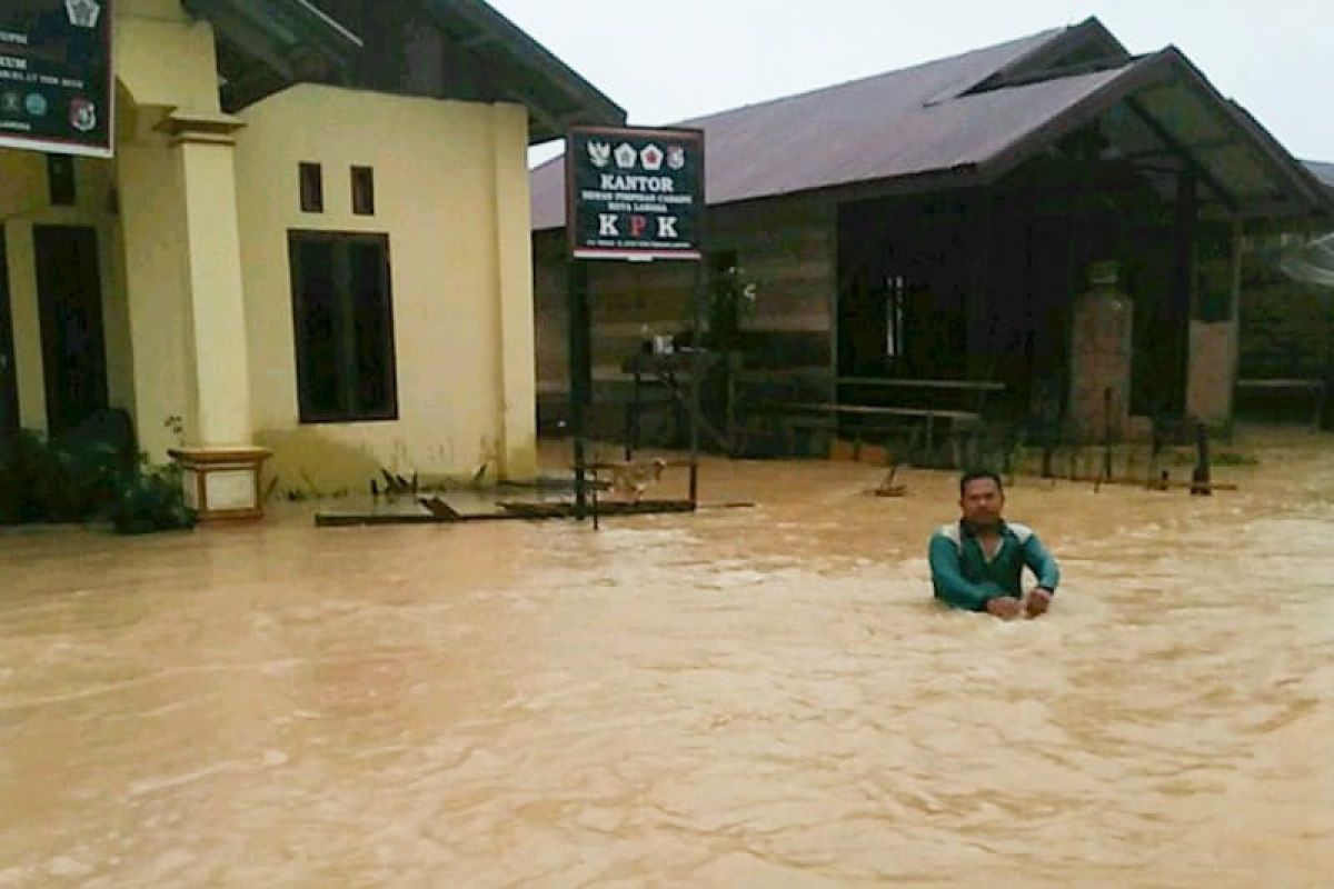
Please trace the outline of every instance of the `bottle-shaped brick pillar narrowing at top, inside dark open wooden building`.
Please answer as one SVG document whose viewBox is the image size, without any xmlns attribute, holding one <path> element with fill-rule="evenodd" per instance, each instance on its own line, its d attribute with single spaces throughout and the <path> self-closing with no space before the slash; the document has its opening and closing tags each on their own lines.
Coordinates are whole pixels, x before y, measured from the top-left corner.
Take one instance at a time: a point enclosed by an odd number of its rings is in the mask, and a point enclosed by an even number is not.
<svg viewBox="0 0 1334 889">
<path fill-rule="evenodd" d="M 1090 279 L 1071 315 L 1069 432 L 1075 441 L 1103 441 L 1109 432 L 1119 441 L 1130 417 L 1134 304 L 1117 288 L 1115 263 L 1095 264 Z"/>
</svg>

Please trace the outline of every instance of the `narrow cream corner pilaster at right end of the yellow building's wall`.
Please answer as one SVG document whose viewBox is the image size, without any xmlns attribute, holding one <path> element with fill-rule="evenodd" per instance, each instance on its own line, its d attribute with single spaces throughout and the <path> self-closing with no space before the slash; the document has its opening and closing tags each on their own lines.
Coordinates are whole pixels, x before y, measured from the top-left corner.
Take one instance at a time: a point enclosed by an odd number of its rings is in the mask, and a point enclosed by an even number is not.
<svg viewBox="0 0 1334 889">
<path fill-rule="evenodd" d="M 538 368 L 532 320 L 528 120 L 520 105 L 492 107 L 496 291 L 500 328 L 500 476 L 538 474 Z"/>
</svg>

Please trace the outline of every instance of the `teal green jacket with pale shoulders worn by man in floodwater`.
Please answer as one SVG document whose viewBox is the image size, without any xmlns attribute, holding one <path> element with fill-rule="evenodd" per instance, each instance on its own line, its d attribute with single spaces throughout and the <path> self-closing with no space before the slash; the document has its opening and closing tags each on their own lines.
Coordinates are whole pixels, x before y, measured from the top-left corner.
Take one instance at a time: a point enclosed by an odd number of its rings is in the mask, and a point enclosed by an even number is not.
<svg viewBox="0 0 1334 889">
<path fill-rule="evenodd" d="M 1025 565 L 1038 577 L 1038 586 L 1054 593 L 1061 582 L 1057 560 L 1031 528 L 1018 522 L 1000 522 L 1000 549 L 991 561 L 960 521 L 940 525 L 927 554 L 935 597 L 954 608 L 980 612 L 991 598 L 1021 596 Z"/>
</svg>

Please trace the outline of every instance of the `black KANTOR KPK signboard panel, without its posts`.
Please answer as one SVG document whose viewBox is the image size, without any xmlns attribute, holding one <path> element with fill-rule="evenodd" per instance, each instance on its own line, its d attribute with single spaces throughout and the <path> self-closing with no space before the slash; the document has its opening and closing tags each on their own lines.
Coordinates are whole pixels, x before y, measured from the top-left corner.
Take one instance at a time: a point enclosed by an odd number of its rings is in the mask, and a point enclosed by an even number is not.
<svg viewBox="0 0 1334 889">
<path fill-rule="evenodd" d="M 566 139 L 566 229 L 583 260 L 699 260 L 704 133 L 578 128 Z"/>
</svg>

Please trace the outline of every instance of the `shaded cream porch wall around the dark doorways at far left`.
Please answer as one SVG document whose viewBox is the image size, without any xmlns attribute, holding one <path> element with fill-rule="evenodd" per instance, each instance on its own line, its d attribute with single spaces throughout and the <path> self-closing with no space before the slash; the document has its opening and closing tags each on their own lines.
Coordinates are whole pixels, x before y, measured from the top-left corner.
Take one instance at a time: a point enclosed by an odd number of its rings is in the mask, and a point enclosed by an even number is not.
<svg viewBox="0 0 1334 889">
<path fill-rule="evenodd" d="M 113 208 L 111 161 L 75 159 L 75 207 L 52 207 L 44 155 L 0 149 L 0 224 L 9 265 L 9 315 L 13 327 L 19 421 L 47 431 L 47 393 L 41 359 L 41 316 L 33 255 L 35 225 L 79 225 L 97 232 L 107 389 L 112 407 L 132 409 L 133 376 L 125 311 L 120 231 Z"/>
</svg>

